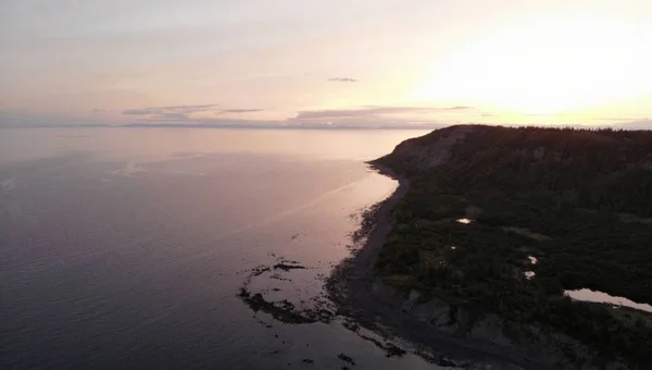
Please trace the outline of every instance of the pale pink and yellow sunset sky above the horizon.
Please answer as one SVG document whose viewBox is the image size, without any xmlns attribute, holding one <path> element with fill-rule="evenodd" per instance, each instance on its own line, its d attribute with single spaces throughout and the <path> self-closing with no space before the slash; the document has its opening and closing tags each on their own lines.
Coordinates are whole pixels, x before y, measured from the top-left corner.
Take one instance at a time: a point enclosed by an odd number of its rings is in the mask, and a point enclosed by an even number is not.
<svg viewBox="0 0 652 370">
<path fill-rule="evenodd" d="M 0 126 L 652 128 L 649 0 L 0 0 Z"/>
</svg>

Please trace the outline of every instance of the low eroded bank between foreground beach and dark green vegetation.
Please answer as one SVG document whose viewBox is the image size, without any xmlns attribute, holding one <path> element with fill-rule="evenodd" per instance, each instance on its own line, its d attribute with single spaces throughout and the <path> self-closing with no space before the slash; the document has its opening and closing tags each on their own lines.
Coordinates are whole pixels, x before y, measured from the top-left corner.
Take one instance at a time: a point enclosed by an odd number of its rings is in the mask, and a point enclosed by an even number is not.
<svg viewBox="0 0 652 370">
<path fill-rule="evenodd" d="M 425 330 L 437 330 L 454 337 L 472 341 L 476 346 L 497 346 L 522 353 L 549 369 L 560 370 L 627 370 L 624 361 L 604 361 L 580 342 L 536 324 L 516 324 L 493 313 L 473 312 L 468 308 L 451 306 L 438 299 L 424 299 L 416 291 L 410 293 L 376 279 L 374 297 L 396 310 L 426 324 Z"/>
</svg>

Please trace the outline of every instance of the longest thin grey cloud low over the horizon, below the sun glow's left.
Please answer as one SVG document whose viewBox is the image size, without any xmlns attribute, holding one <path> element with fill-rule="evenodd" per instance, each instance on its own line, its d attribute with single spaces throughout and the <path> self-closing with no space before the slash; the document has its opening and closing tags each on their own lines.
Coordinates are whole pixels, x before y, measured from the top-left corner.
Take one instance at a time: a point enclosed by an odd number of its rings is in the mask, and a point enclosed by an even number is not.
<svg viewBox="0 0 652 370">
<path fill-rule="evenodd" d="M 405 113 L 432 113 L 446 111 L 465 111 L 472 110 L 473 107 L 455 106 L 455 107 L 362 107 L 358 109 L 329 109 L 300 111 L 296 119 L 333 119 L 333 118 L 360 118 L 360 116 L 377 116 L 384 114 L 405 114 Z"/>
</svg>

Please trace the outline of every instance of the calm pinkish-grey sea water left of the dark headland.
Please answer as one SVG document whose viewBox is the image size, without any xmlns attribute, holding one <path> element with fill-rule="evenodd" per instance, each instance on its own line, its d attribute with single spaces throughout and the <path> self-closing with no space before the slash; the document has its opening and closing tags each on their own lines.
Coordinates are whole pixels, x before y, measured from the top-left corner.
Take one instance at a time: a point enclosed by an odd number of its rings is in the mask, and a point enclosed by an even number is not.
<svg viewBox="0 0 652 370">
<path fill-rule="evenodd" d="M 0 368 L 438 369 L 236 296 L 319 297 L 396 187 L 363 162 L 422 134 L 0 130 Z"/>
</svg>

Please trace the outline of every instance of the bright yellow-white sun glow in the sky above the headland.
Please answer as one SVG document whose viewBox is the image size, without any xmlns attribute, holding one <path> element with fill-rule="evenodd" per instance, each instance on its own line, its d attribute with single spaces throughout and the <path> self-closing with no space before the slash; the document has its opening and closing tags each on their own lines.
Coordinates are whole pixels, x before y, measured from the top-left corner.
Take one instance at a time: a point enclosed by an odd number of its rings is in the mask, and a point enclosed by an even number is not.
<svg viewBox="0 0 652 370">
<path fill-rule="evenodd" d="M 549 17 L 476 37 L 434 63 L 418 99 L 552 114 L 650 94 L 648 26 Z"/>
</svg>

